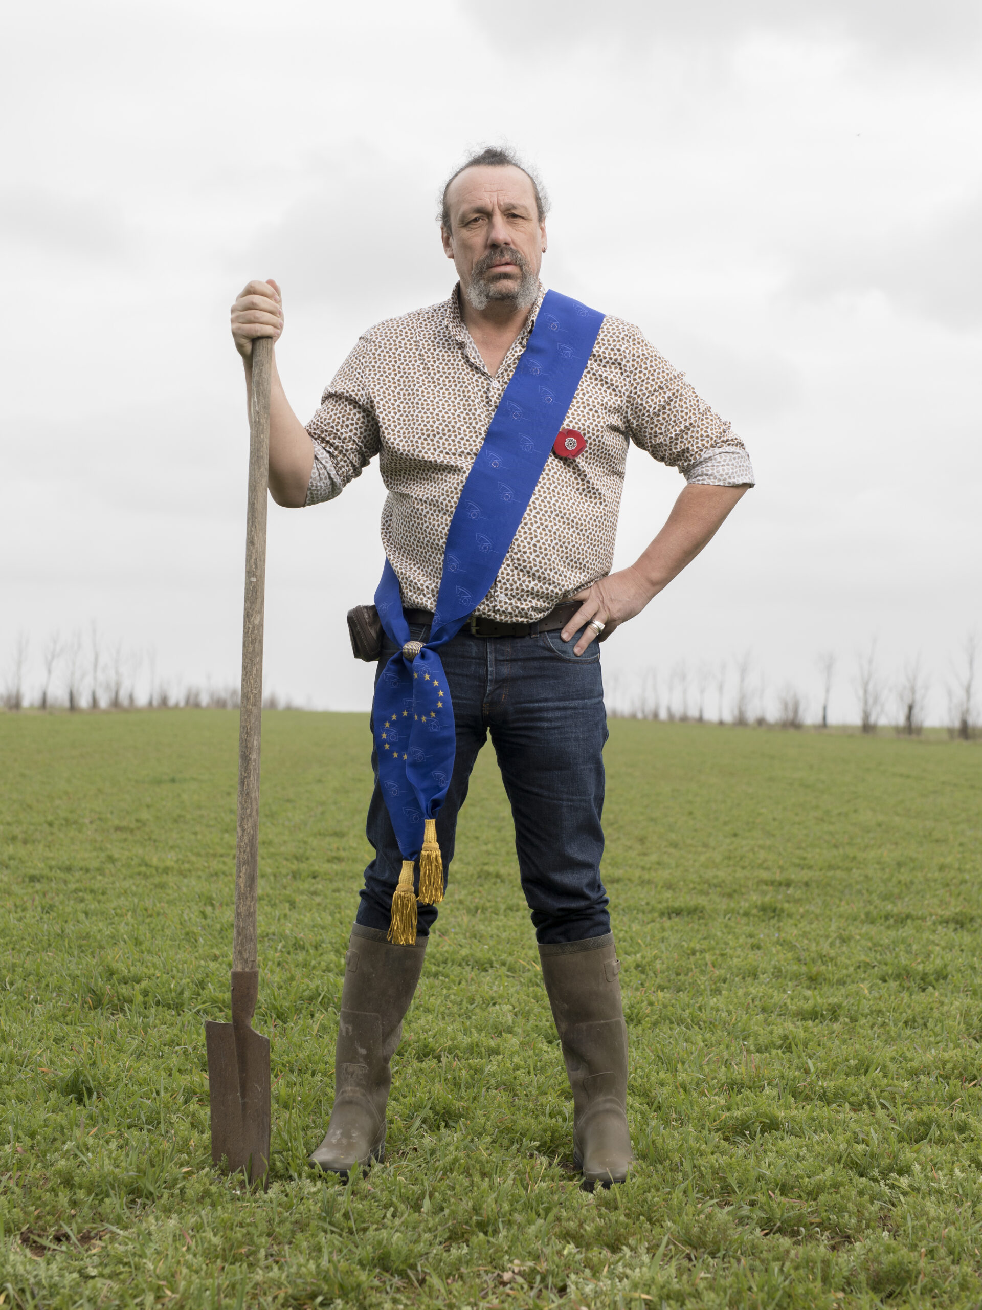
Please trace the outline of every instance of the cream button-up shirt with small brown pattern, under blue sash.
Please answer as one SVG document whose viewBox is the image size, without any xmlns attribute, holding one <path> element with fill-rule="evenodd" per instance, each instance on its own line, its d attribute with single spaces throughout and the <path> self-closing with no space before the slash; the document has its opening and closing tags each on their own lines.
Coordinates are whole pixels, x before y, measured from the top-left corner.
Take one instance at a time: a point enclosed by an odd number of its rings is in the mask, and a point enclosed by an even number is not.
<svg viewBox="0 0 982 1310">
<path fill-rule="evenodd" d="M 449 300 L 376 324 L 338 369 L 306 426 L 314 466 L 306 503 L 338 495 L 377 455 L 389 495 L 382 545 L 403 605 L 433 609 L 450 517 L 491 418 L 534 326 L 545 287 L 492 376 Z M 642 331 L 604 320 L 563 427 L 587 439 L 550 455 L 498 580 L 477 608 L 534 622 L 606 576 L 614 558 L 627 443 L 689 482 L 753 483 L 744 443 Z"/>
</svg>

